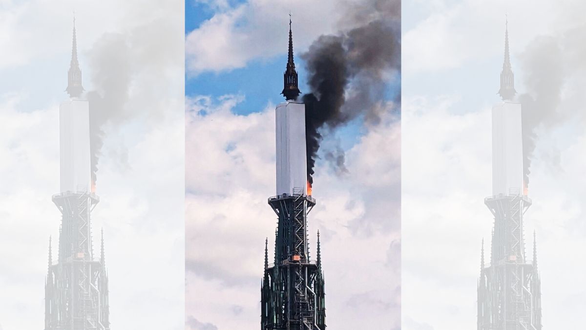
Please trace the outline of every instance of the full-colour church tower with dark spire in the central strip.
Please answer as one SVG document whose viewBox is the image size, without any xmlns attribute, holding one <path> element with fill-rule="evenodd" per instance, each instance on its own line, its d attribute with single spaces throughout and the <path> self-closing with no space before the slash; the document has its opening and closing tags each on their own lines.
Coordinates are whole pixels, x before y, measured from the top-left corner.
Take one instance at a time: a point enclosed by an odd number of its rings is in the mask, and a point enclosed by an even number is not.
<svg viewBox="0 0 586 330">
<path fill-rule="evenodd" d="M 315 206 L 308 184 L 305 105 L 298 102 L 297 72 L 289 20 L 289 56 L 277 106 L 277 196 L 268 204 L 277 214 L 275 258 L 265 241 L 261 281 L 261 330 L 325 330 L 325 293 L 318 233 L 316 261 L 309 257 L 307 215 Z"/>
</svg>

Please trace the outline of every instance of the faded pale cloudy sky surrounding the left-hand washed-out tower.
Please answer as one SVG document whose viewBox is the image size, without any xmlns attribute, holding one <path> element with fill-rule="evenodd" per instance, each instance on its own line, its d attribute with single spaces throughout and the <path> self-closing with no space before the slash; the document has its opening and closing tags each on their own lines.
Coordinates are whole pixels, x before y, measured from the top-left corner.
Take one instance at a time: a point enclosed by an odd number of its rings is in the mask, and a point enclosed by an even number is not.
<svg viewBox="0 0 586 330">
<path fill-rule="evenodd" d="M 84 87 L 121 96 L 104 109 L 93 212 L 112 328 L 182 329 L 183 2 L 138 0 L 0 1 L 0 329 L 44 325 L 73 11 Z"/>
</svg>

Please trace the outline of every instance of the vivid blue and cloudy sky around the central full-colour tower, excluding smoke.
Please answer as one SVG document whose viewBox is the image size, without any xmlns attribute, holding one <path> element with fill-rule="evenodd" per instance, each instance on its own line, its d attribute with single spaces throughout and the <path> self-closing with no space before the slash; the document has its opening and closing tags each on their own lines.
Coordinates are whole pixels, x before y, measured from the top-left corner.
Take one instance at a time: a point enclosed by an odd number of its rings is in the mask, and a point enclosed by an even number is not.
<svg viewBox="0 0 586 330">
<path fill-rule="evenodd" d="M 264 240 L 276 218 L 274 108 L 282 102 L 289 11 L 300 54 L 319 35 L 372 19 L 384 1 L 189 1 L 186 6 L 186 322 L 191 330 L 257 329 Z M 352 11 L 352 9 L 354 9 Z M 387 83 L 397 86 L 397 73 Z M 322 237 L 327 324 L 400 328 L 398 89 L 378 124 L 361 119 L 328 137 L 348 173 L 318 160 L 309 244 Z M 272 247 L 269 248 L 272 251 Z M 271 254 L 271 253 L 270 253 Z M 272 256 L 270 256 L 272 258 Z"/>
</svg>

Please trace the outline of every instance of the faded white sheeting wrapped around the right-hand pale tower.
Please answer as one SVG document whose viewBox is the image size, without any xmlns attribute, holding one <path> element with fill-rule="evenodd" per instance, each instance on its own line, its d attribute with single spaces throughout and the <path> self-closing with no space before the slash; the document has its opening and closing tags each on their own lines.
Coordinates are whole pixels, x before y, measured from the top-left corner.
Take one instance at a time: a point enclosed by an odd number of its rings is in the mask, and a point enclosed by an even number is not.
<svg viewBox="0 0 586 330">
<path fill-rule="evenodd" d="M 492 108 L 492 193 L 523 193 L 523 140 L 520 103 Z"/>
</svg>

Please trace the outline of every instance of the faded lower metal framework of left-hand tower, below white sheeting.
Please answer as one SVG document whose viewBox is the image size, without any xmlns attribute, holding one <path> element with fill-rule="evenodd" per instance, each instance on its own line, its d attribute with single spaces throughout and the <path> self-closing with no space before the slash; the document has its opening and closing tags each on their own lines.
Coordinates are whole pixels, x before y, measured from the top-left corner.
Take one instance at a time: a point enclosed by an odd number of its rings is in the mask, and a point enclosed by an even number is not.
<svg viewBox="0 0 586 330">
<path fill-rule="evenodd" d="M 91 211 L 99 198 L 93 193 L 62 193 L 53 203 L 62 214 L 59 258 L 52 263 L 45 285 L 45 330 L 109 330 L 108 275 L 101 254 L 94 259 Z"/>
</svg>

